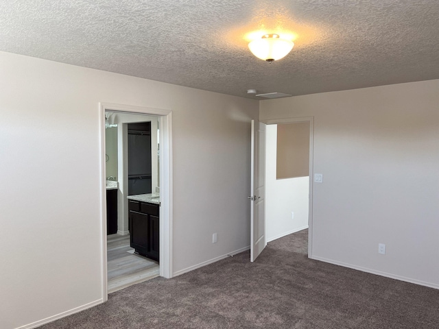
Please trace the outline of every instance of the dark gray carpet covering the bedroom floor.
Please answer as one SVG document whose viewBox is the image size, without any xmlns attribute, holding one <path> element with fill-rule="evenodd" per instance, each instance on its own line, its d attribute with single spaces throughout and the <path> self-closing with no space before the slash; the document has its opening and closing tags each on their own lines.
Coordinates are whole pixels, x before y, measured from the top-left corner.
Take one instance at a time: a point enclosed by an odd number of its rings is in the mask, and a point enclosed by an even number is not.
<svg viewBox="0 0 439 329">
<path fill-rule="evenodd" d="M 307 230 L 40 328 L 439 328 L 439 290 L 307 258 Z"/>
</svg>

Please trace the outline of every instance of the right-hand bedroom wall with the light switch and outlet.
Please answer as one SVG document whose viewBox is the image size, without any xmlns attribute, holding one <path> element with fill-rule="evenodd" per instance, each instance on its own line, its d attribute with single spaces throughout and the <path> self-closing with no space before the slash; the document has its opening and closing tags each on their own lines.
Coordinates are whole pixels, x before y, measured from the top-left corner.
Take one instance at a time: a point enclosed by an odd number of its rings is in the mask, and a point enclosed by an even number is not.
<svg viewBox="0 0 439 329">
<path fill-rule="evenodd" d="M 430 80 L 261 101 L 261 120 L 314 117 L 312 258 L 439 288 L 438 90 Z"/>
</svg>

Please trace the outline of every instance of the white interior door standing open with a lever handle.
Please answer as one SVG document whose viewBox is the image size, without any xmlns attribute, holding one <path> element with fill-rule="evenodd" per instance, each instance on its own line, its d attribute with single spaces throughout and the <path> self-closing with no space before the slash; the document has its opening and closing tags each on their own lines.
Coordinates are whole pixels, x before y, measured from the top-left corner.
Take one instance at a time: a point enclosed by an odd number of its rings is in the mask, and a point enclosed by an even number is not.
<svg viewBox="0 0 439 329">
<path fill-rule="evenodd" d="M 265 124 L 252 120 L 250 261 L 265 248 Z"/>
</svg>

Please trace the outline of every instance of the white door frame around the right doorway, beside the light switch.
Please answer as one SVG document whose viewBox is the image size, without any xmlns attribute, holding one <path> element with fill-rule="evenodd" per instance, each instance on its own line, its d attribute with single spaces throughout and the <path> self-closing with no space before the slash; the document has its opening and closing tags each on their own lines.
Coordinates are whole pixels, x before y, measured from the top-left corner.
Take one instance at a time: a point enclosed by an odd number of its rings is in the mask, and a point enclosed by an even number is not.
<svg viewBox="0 0 439 329">
<path fill-rule="evenodd" d="M 313 258 L 313 149 L 314 149 L 314 117 L 260 120 L 266 125 L 283 123 L 309 123 L 309 200 L 308 200 L 308 258 Z M 265 221 L 266 223 L 266 221 Z"/>
</svg>

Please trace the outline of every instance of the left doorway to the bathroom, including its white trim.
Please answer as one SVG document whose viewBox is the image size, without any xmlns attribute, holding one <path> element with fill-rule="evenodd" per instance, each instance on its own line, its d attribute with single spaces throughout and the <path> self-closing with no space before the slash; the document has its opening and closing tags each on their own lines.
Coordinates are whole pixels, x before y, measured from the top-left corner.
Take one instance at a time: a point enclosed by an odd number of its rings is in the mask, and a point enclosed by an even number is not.
<svg viewBox="0 0 439 329">
<path fill-rule="evenodd" d="M 156 276 L 171 277 L 171 112 L 101 107 L 104 288 L 111 293 Z"/>
</svg>

